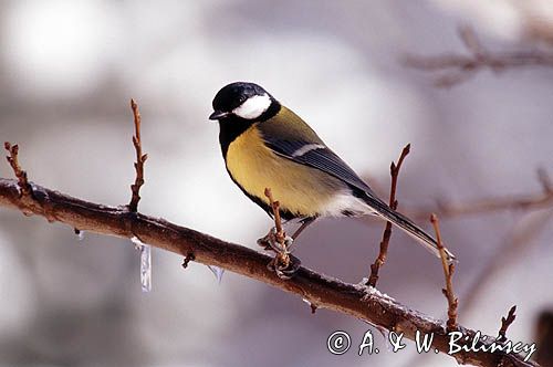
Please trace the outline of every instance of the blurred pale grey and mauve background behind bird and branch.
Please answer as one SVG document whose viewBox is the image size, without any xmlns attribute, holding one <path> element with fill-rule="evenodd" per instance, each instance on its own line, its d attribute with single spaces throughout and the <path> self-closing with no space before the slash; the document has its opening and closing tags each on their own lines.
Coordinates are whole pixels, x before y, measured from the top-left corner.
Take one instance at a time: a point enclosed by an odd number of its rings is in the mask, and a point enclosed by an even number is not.
<svg viewBox="0 0 553 367">
<path fill-rule="evenodd" d="M 463 53 L 459 24 L 472 25 L 492 50 L 546 49 L 553 4 L 3 0 L 0 140 L 20 144 L 32 181 L 124 205 L 134 180 L 134 97 L 149 155 L 140 211 L 255 248 L 271 221 L 228 178 L 218 126 L 207 119 L 220 87 L 253 81 L 386 199 L 389 162 L 411 143 L 399 208 L 539 193 L 536 169 L 553 174 L 552 69 L 483 71 L 445 90 L 434 86 L 434 74 L 400 62 L 405 53 Z M 6 162 L 0 176 L 12 177 Z M 517 304 L 508 336 L 536 339 L 539 315 L 553 307 L 552 211 L 441 220 L 460 260 L 455 285 L 465 326 L 495 335 Z M 358 283 L 383 228 L 321 220 L 302 234 L 296 255 Z M 382 353 L 359 357 L 371 328 L 363 322 L 325 310 L 311 315 L 298 296 L 232 273 L 218 284 L 204 265 L 182 270 L 175 254 L 153 255 L 153 291 L 142 293 L 138 252 L 128 240 L 85 233 L 79 241 L 71 228 L 1 209 L 0 365 L 456 365 L 445 355 L 418 356 L 411 343 L 387 352 L 376 331 Z M 378 289 L 442 318 L 442 284 L 439 261 L 394 232 Z M 326 349 L 336 329 L 353 339 L 342 356 Z"/>
</svg>

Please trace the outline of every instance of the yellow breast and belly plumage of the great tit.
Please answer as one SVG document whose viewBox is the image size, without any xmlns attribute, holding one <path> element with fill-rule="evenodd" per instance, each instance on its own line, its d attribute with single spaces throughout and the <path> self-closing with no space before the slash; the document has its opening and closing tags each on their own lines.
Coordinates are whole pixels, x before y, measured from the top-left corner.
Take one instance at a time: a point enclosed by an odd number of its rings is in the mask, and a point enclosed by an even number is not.
<svg viewBox="0 0 553 367">
<path fill-rule="evenodd" d="M 276 156 L 263 144 L 255 125 L 230 144 L 226 162 L 248 193 L 269 203 L 264 190 L 271 188 L 281 208 L 299 217 L 322 214 L 342 186 L 315 168 Z"/>
</svg>

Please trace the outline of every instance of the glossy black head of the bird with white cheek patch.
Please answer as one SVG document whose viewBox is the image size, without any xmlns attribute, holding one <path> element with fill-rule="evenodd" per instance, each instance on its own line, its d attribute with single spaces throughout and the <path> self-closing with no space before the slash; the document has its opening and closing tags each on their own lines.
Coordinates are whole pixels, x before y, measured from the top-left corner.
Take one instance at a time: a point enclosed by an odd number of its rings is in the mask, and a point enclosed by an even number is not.
<svg viewBox="0 0 553 367">
<path fill-rule="evenodd" d="M 236 82 L 223 86 L 213 98 L 213 113 L 209 119 L 219 122 L 236 117 L 259 120 L 274 115 L 280 104 L 254 83 Z"/>
</svg>

